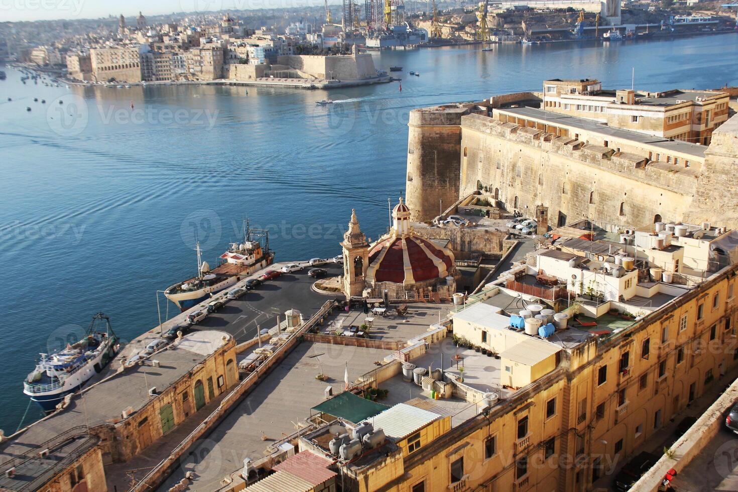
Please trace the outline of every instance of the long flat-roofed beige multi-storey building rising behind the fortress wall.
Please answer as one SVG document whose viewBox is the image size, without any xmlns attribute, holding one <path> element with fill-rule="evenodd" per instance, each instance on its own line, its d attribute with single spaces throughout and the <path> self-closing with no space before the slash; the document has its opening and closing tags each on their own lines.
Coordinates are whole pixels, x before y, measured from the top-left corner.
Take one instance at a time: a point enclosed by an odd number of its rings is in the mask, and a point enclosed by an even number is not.
<svg viewBox="0 0 738 492">
<path fill-rule="evenodd" d="M 542 109 L 607 123 L 614 128 L 709 145 L 728 119 L 727 92 L 602 89 L 599 80 L 543 82 Z"/>
</svg>

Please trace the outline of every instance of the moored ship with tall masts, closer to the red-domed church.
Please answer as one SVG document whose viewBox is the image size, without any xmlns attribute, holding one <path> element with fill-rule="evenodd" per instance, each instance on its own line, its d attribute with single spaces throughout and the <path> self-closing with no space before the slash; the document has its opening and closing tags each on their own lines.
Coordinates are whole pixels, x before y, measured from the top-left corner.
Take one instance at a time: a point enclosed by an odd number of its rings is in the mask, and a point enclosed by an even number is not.
<svg viewBox="0 0 738 492">
<path fill-rule="evenodd" d="M 228 251 L 219 258 L 221 264 L 212 270 L 206 261 L 202 261 L 200 243 L 196 243 L 195 250 L 197 277 L 172 285 L 164 291 L 167 299 L 174 302 L 180 311 L 187 311 L 216 292 L 271 265 L 275 257 L 275 253 L 269 249 L 269 231 L 251 229 L 248 221 L 244 224 L 244 242 L 231 243 Z"/>
</svg>

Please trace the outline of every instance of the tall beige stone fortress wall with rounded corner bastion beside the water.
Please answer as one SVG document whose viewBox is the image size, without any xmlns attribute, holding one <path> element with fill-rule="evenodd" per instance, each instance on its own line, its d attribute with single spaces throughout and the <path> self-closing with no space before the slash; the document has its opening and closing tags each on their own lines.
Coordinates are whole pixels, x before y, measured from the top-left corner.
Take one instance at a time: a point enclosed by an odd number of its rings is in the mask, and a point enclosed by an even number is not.
<svg viewBox="0 0 738 492">
<path fill-rule="evenodd" d="M 715 131 L 704 157 L 678 167 L 649 162 L 638 142 L 622 142 L 617 152 L 594 139 L 500 122 L 489 117 L 492 111 L 480 105 L 411 111 L 407 204 L 413 220 L 432 220 L 441 198 L 450 204 L 487 187 L 508 211 L 532 216 L 537 205 L 548 207 L 554 227 L 590 217 L 636 227 L 655 218 L 738 227 L 737 117 Z"/>
</svg>

